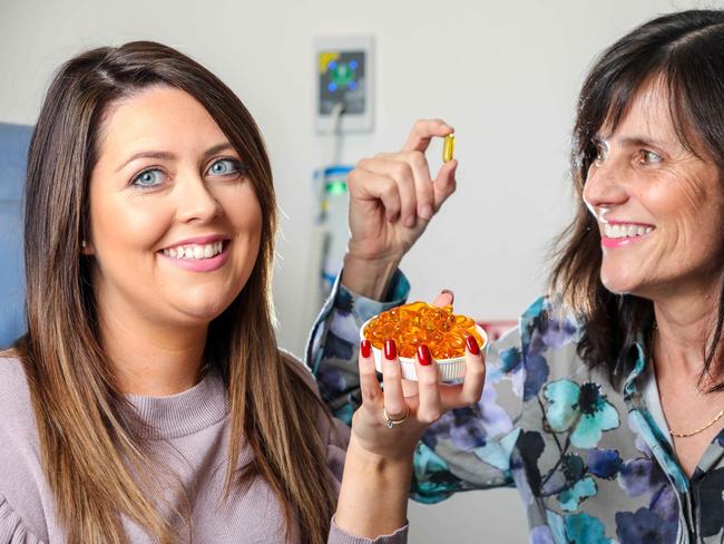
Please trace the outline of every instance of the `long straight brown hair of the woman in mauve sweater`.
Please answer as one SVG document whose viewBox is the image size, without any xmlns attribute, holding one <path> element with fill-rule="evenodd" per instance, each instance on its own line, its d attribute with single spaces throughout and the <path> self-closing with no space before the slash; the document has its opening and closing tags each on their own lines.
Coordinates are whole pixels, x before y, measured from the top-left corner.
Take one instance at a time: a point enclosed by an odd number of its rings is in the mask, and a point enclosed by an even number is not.
<svg viewBox="0 0 724 544">
<path fill-rule="evenodd" d="M 335 498 L 316 428 L 322 404 L 277 349 L 271 303 L 276 231 L 272 171 L 254 119 L 204 67 L 168 47 L 131 42 L 85 52 L 52 81 L 30 145 L 25 256 L 28 333 L 16 349 L 28 376 L 45 474 L 70 543 L 124 543 L 121 516 L 159 542 L 179 536 L 147 493 L 158 478 L 148 447 L 125 416 L 124 396 L 99 340 L 92 263 L 81 258 L 88 184 L 104 114 L 148 86 L 198 100 L 248 166 L 263 229 L 242 293 L 208 331 L 206 360 L 223 375 L 231 406 L 226 496 L 261 476 L 284 506 L 286 531 L 326 541 Z M 127 405 L 126 405 L 127 406 Z M 237 467 L 246 439 L 254 460 Z M 190 532 L 189 532 L 190 534 Z M 242 535 L 239 535 L 242 538 Z"/>
</svg>

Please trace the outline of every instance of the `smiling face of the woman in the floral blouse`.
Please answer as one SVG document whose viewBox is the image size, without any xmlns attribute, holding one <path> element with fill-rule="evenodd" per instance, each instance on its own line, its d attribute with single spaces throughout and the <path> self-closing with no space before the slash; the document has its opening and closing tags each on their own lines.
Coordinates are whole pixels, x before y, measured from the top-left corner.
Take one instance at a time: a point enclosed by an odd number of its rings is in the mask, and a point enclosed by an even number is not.
<svg viewBox="0 0 724 544">
<path fill-rule="evenodd" d="M 702 146 L 697 157 L 679 142 L 665 87 L 639 91 L 615 130 L 599 130 L 597 146 L 584 200 L 600 229 L 604 285 L 650 300 L 713 292 L 724 245 L 722 181 Z"/>
</svg>

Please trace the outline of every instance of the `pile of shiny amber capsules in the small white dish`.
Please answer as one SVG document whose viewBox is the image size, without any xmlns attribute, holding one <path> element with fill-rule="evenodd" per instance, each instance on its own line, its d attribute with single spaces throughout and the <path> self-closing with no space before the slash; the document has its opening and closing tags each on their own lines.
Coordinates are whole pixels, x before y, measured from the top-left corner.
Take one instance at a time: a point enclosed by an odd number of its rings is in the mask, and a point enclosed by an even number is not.
<svg viewBox="0 0 724 544">
<path fill-rule="evenodd" d="M 482 347 L 476 323 L 466 315 L 452 313 L 452 307 L 437 308 L 427 302 L 411 302 L 380 313 L 364 329 L 364 338 L 383 349 L 385 340 L 394 340 L 400 357 L 413 358 L 424 343 L 436 359 L 462 357 L 466 338 L 472 336 Z"/>
</svg>

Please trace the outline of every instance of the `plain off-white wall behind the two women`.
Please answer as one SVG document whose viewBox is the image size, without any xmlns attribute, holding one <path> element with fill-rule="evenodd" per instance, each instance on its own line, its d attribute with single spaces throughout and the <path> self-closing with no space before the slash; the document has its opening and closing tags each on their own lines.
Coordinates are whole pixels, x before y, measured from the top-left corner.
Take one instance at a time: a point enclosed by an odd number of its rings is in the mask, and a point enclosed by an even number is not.
<svg viewBox="0 0 724 544">
<path fill-rule="evenodd" d="M 260 123 L 286 214 L 275 295 L 282 343 L 300 353 L 311 174 L 314 37 L 376 39 L 375 132 L 344 159 L 394 149 L 418 117 L 457 129 L 459 191 L 404 262 L 413 298 L 441 288 L 457 310 L 512 318 L 544 284 L 542 256 L 568 221 L 569 129 L 594 56 L 653 16 L 722 2 L 669 0 L 0 0 L 0 122 L 33 123 L 51 72 L 89 47 L 154 39 L 195 57 Z M 433 153 L 433 161 L 439 148 Z M 411 508 L 411 542 L 525 542 L 512 492 Z"/>
</svg>

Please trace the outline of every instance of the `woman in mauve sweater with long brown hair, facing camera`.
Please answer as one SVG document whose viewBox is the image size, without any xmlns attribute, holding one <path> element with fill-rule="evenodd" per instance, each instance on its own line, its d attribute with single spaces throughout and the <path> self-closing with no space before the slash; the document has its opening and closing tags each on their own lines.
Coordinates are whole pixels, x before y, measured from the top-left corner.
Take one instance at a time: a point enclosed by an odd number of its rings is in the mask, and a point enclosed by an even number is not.
<svg viewBox="0 0 724 544">
<path fill-rule="evenodd" d="M 390 435 L 371 396 L 340 489 L 349 435 L 275 341 L 275 229 L 260 132 L 208 70 L 153 42 L 60 69 L 0 359 L 0 543 L 405 540 L 427 425 Z"/>
</svg>

